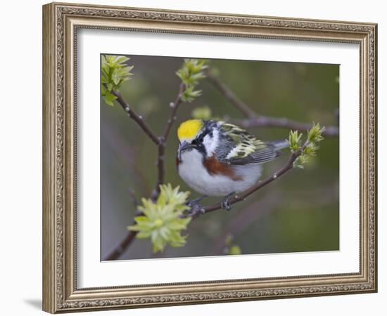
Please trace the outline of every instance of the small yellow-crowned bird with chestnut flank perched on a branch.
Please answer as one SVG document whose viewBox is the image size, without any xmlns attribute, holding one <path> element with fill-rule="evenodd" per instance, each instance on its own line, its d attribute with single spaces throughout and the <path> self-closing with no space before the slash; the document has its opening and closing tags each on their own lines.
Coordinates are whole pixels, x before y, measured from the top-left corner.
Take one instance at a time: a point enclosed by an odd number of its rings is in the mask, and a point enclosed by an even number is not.
<svg viewBox="0 0 387 316">
<path fill-rule="evenodd" d="M 226 210 L 231 209 L 232 195 L 257 183 L 262 164 L 288 147 L 287 140 L 263 142 L 239 126 L 216 120 L 184 121 L 177 137 L 179 176 L 203 197 L 223 197 Z"/>
</svg>

